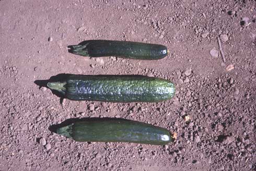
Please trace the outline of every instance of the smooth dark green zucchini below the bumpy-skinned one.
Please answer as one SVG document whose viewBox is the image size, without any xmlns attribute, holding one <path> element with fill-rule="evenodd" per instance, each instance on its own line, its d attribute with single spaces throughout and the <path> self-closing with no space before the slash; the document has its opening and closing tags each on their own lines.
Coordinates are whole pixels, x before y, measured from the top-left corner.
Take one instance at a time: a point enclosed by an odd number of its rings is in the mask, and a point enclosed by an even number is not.
<svg viewBox="0 0 256 171">
<path fill-rule="evenodd" d="M 165 128 L 135 121 L 79 121 L 58 128 L 56 132 L 75 141 L 89 142 L 165 145 L 175 140 Z"/>
</svg>

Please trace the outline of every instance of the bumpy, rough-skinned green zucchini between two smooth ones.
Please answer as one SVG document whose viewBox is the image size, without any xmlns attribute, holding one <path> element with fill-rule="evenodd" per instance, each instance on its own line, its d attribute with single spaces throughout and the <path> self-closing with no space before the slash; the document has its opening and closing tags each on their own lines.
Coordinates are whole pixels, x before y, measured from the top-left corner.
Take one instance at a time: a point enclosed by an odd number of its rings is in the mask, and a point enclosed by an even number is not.
<svg viewBox="0 0 256 171">
<path fill-rule="evenodd" d="M 175 94 L 175 86 L 168 80 L 134 75 L 71 75 L 64 82 L 47 86 L 71 100 L 159 102 Z"/>
</svg>

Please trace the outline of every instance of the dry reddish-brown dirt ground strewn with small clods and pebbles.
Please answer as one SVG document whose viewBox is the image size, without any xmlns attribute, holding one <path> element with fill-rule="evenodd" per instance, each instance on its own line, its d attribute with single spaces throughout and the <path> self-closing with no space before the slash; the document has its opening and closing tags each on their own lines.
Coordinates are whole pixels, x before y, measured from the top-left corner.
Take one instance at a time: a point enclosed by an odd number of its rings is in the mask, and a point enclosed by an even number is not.
<svg viewBox="0 0 256 171">
<path fill-rule="evenodd" d="M 255 19 L 249 0 L 1 0 L 0 170 L 255 170 Z M 164 44 L 170 54 L 139 61 L 67 51 L 94 39 Z M 61 104 L 34 82 L 62 73 L 157 76 L 177 93 L 160 103 Z M 49 130 L 78 117 L 146 122 L 178 139 L 168 146 L 75 142 Z"/>
</svg>

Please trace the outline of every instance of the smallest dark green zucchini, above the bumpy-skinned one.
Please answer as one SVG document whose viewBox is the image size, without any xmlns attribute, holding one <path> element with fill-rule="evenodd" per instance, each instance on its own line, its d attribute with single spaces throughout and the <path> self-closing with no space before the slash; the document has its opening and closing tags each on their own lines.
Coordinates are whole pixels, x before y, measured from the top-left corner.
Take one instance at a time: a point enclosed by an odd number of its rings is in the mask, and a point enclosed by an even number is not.
<svg viewBox="0 0 256 171">
<path fill-rule="evenodd" d="M 91 40 L 69 46 L 69 52 L 89 57 L 116 56 L 131 59 L 156 60 L 168 55 L 166 46 L 139 42 Z"/>
</svg>

